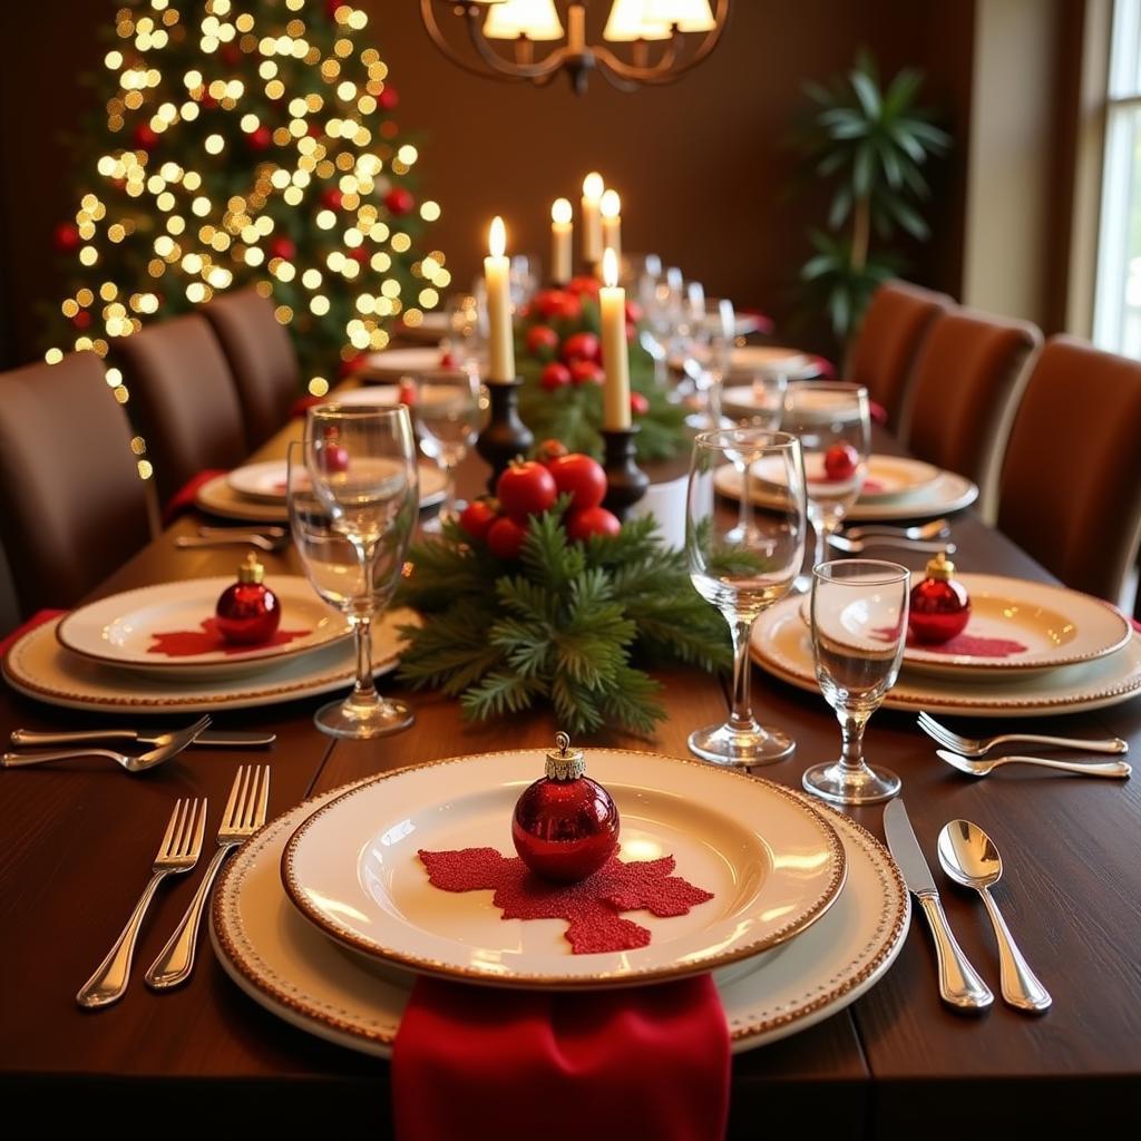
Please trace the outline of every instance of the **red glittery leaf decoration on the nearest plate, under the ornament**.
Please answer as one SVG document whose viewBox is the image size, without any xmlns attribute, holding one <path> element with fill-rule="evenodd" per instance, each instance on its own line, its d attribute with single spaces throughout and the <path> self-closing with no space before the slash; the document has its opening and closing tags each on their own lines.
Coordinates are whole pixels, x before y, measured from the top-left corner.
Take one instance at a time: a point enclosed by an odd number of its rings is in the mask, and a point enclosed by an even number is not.
<svg viewBox="0 0 1141 1141">
<path fill-rule="evenodd" d="M 521 859 L 494 848 L 421 850 L 420 859 L 442 891 L 494 891 L 492 903 L 504 920 L 566 920 L 566 938 L 576 955 L 648 946 L 650 932 L 620 912 L 648 911 L 667 919 L 713 898 L 671 874 L 672 856 L 629 864 L 614 856 L 580 883 L 542 880 Z"/>
</svg>

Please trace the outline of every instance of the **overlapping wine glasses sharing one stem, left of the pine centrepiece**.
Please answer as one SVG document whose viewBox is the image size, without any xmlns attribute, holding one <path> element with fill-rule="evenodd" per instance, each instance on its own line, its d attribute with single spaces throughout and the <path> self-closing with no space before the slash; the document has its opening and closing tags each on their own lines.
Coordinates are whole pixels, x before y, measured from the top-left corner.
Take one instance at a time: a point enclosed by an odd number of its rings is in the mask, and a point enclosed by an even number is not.
<svg viewBox="0 0 1141 1141">
<path fill-rule="evenodd" d="M 322 598 L 345 610 L 356 639 L 353 693 L 314 720 L 325 733 L 358 739 L 404 729 L 412 711 L 381 698 L 373 683 L 372 623 L 399 583 L 419 509 L 408 410 L 310 408 L 302 448 L 291 450 L 290 461 L 290 526 L 306 574 Z"/>
</svg>

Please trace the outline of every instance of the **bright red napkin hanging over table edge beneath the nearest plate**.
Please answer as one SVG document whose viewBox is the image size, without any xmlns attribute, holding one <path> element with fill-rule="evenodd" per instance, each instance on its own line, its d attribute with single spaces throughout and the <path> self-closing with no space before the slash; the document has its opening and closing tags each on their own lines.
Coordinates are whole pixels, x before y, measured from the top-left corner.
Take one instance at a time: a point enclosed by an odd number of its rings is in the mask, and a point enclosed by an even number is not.
<svg viewBox="0 0 1141 1141">
<path fill-rule="evenodd" d="M 582 994 L 419 978 L 393 1101 L 398 1141 L 720 1141 L 725 1011 L 710 974 Z"/>
</svg>

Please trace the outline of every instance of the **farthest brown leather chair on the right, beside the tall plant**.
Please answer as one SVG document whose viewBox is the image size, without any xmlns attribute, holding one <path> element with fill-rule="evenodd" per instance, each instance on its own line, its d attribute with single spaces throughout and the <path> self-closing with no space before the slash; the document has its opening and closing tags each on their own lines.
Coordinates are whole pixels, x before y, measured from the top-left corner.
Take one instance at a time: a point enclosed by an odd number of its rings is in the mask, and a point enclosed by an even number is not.
<svg viewBox="0 0 1141 1141">
<path fill-rule="evenodd" d="M 954 306 L 946 293 L 908 282 L 884 282 L 872 297 L 844 369 L 844 379 L 863 385 L 898 429 L 907 381 L 932 322 Z"/>
</svg>

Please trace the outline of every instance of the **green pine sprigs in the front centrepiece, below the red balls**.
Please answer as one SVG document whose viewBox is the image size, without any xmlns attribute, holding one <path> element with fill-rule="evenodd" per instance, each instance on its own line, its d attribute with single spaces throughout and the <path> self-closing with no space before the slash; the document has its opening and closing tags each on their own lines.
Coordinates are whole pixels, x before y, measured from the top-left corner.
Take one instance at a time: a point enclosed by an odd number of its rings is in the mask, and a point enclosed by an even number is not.
<svg viewBox="0 0 1141 1141">
<path fill-rule="evenodd" d="M 458 696 L 469 718 L 548 704 L 573 735 L 616 726 L 648 736 L 665 711 L 639 666 L 725 669 L 726 623 L 652 517 L 577 543 L 563 528 L 566 507 L 531 518 L 517 561 L 469 543 L 454 523 L 438 542 L 413 547 L 397 604 L 424 622 L 400 630 L 399 677 Z"/>
</svg>

